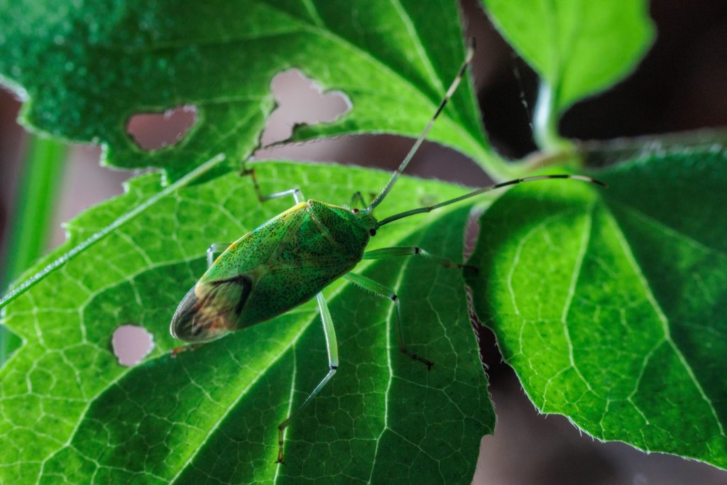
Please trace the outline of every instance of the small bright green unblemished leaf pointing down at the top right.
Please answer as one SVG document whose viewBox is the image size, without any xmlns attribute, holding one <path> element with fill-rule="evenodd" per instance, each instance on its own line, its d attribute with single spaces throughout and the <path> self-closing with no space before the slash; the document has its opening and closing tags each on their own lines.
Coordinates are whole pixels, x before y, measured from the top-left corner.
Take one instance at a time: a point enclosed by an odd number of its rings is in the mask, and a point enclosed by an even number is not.
<svg viewBox="0 0 727 485">
<path fill-rule="evenodd" d="M 643 0 L 483 0 L 550 89 L 557 116 L 626 76 L 654 39 Z"/>
</svg>

